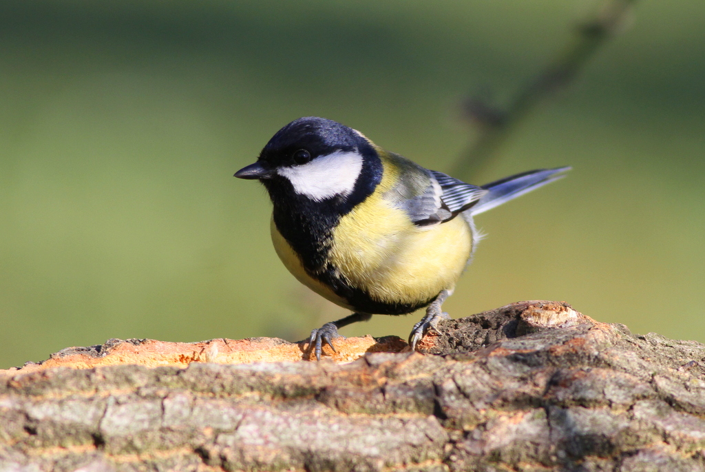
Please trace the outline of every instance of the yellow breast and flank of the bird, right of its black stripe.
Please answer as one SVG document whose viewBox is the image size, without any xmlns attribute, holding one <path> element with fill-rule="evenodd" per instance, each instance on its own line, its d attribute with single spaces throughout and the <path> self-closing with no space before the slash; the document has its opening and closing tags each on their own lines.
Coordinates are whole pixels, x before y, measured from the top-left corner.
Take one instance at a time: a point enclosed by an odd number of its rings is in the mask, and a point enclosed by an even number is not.
<svg viewBox="0 0 705 472">
<path fill-rule="evenodd" d="M 377 301 L 415 303 L 452 290 L 465 270 L 472 231 L 464 218 L 415 226 L 385 198 L 397 181 L 393 157 L 378 150 L 384 165 L 379 190 L 346 214 L 333 230 L 333 265 L 353 286 Z"/>
</svg>

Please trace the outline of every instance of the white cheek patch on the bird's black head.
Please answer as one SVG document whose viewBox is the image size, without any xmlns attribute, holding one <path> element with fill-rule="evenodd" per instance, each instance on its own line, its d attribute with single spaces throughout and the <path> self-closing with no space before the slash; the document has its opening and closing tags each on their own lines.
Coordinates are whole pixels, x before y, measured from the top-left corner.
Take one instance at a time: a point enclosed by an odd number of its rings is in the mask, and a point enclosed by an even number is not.
<svg viewBox="0 0 705 472">
<path fill-rule="evenodd" d="M 350 195 L 360 171 L 360 154 L 336 151 L 302 166 L 281 167 L 276 173 L 288 178 L 296 193 L 321 201 L 336 195 Z"/>
</svg>

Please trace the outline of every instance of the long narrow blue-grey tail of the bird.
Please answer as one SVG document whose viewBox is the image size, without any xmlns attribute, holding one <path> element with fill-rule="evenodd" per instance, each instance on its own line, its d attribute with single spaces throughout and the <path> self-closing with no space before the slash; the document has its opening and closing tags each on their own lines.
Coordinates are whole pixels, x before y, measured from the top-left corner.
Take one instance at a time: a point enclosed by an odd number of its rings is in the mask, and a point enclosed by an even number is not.
<svg viewBox="0 0 705 472">
<path fill-rule="evenodd" d="M 472 216 L 484 213 L 520 195 L 545 186 L 546 183 L 565 177 L 565 173 L 570 169 L 570 167 L 538 169 L 488 183 L 482 188 L 489 190 L 489 192 L 480 198 L 477 204 L 473 205 L 468 211 Z"/>
</svg>

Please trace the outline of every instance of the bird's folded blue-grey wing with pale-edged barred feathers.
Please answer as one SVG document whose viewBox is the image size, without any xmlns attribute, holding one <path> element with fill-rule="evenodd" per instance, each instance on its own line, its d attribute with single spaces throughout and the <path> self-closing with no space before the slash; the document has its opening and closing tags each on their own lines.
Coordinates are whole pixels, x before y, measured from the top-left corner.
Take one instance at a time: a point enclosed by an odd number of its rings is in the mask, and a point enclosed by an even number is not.
<svg viewBox="0 0 705 472">
<path fill-rule="evenodd" d="M 426 172 L 428 180 L 424 179 L 424 189 L 416 195 L 407 195 L 407 198 L 398 202 L 417 226 L 447 222 L 487 193 L 484 188 L 459 181 L 441 172 Z M 408 184 L 404 187 L 410 188 Z"/>
</svg>

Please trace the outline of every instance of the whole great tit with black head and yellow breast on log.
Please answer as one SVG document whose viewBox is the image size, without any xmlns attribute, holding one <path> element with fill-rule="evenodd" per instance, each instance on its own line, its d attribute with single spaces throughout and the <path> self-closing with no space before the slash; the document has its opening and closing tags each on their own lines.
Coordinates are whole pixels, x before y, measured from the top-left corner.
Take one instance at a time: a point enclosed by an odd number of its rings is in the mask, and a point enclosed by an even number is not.
<svg viewBox="0 0 705 472">
<path fill-rule="evenodd" d="M 474 186 L 383 150 L 359 131 L 307 116 L 279 130 L 255 164 L 274 212 L 271 238 L 299 282 L 352 315 L 314 329 L 309 352 L 338 328 L 376 315 L 426 308 L 409 337 L 415 349 L 447 319 L 443 301 L 478 241 L 472 217 L 564 176 L 570 167 Z"/>
</svg>

